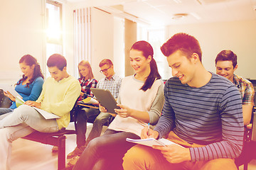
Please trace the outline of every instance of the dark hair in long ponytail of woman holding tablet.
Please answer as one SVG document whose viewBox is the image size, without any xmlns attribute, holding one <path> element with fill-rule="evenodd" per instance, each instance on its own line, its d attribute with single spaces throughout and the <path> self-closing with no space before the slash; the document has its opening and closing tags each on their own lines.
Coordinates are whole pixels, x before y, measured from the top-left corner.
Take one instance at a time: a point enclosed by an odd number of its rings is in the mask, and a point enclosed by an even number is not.
<svg viewBox="0 0 256 170">
<path fill-rule="evenodd" d="M 146 91 L 147 89 L 150 89 L 151 86 L 154 84 L 155 79 L 161 79 L 161 76 L 158 72 L 156 61 L 153 58 L 154 50 L 153 47 L 149 44 L 149 42 L 146 41 L 138 41 L 135 42 L 134 45 L 132 45 L 131 50 L 139 50 L 142 51 L 142 54 L 146 59 L 149 57 L 149 55 L 152 57 L 152 60 L 150 62 L 150 74 L 149 77 L 146 78 L 146 81 L 144 82 L 141 90 Z"/>
</svg>

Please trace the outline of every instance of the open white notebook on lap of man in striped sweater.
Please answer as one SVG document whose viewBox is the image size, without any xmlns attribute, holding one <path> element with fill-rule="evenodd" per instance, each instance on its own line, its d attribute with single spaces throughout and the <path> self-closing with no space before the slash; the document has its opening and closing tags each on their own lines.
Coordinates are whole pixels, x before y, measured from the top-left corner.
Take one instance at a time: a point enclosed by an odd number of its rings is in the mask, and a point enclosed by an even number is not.
<svg viewBox="0 0 256 170">
<path fill-rule="evenodd" d="M 164 138 L 161 138 L 159 140 L 156 140 L 154 138 L 147 138 L 147 139 L 141 139 L 141 140 L 134 140 L 131 138 L 127 138 L 126 141 L 137 143 L 139 145 L 146 145 L 148 147 L 152 147 L 153 145 L 163 146 L 163 147 L 166 145 L 178 145 L 178 144 L 171 142 L 170 140 L 166 140 Z M 179 145 L 179 146 L 181 146 L 181 145 Z"/>
</svg>

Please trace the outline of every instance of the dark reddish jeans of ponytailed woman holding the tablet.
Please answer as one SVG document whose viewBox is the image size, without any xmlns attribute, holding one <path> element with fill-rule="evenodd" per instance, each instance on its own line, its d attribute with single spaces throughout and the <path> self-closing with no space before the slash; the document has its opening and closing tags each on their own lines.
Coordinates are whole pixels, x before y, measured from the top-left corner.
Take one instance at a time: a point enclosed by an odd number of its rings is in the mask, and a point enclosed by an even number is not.
<svg viewBox="0 0 256 170">
<path fill-rule="evenodd" d="M 132 132 L 107 129 L 105 134 L 91 140 L 73 170 L 122 169 L 122 157 L 129 148 L 136 145 L 126 138 L 140 139 Z"/>
</svg>

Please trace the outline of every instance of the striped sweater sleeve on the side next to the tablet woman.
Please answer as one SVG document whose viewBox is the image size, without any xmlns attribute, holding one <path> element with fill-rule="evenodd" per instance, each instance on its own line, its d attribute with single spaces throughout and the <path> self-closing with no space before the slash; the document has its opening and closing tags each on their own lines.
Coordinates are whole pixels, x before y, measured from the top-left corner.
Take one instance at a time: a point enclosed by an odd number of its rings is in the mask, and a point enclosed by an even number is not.
<svg viewBox="0 0 256 170">
<path fill-rule="evenodd" d="M 175 120 L 175 115 L 174 115 L 174 110 L 171 108 L 171 104 L 169 103 L 168 98 L 169 93 L 169 84 L 166 82 L 164 85 L 164 108 L 162 111 L 162 115 L 159 118 L 159 122 L 156 125 L 156 130 L 159 132 L 159 138 L 164 137 L 167 135 L 171 130 L 174 129 L 174 120 Z"/>
</svg>

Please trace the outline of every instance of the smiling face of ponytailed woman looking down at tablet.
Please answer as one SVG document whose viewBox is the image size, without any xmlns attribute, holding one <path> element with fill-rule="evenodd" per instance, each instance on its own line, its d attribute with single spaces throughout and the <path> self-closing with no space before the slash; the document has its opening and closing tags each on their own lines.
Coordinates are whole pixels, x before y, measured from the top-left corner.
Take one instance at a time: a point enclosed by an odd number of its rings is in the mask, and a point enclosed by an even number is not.
<svg viewBox="0 0 256 170">
<path fill-rule="evenodd" d="M 136 74 L 143 74 L 150 67 L 151 56 L 144 57 L 143 52 L 139 50 L 130 50 L 130 64 Z"/>
</svg>

